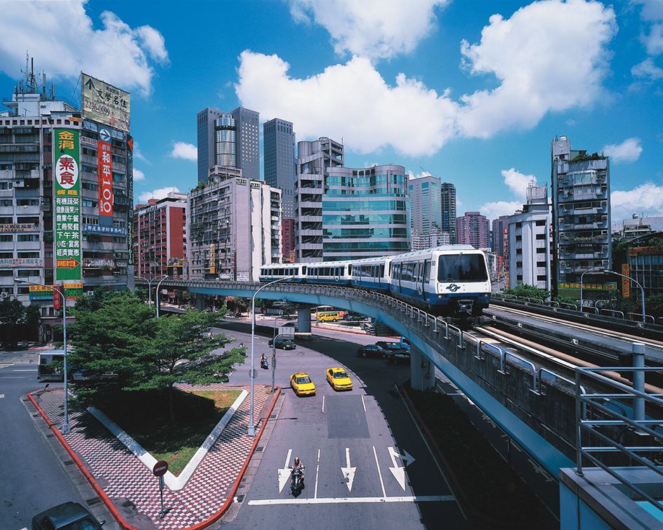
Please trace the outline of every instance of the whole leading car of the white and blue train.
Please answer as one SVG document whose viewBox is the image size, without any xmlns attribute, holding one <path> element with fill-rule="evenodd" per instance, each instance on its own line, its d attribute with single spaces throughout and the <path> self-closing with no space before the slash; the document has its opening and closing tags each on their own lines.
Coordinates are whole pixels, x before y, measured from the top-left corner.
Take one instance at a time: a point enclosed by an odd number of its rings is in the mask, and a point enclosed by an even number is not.
<svg viewBox="0 0 663 530">
<path fill-rule="evenodd" d="M 470 245 L 447 245 L 394 256 L 390 291 L 433 314 L 478 317 L 490 303 L 485 255 Z"/>
</svg>

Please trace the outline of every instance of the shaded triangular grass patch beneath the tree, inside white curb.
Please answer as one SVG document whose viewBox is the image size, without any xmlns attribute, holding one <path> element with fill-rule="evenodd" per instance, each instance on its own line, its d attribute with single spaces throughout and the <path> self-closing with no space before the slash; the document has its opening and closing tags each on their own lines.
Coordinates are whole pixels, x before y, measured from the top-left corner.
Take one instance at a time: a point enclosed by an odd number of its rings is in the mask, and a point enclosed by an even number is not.
<svg viewBox="0 0 663 530">
<path fill-rule="evenodd" d="M 157 460 L 168 462 L 173 475 L 179 475 L 241 390 L 173 392 L 175 428 L 166 391 L 121 392 L 103 406 L 103 412 Z"/>
</svg>

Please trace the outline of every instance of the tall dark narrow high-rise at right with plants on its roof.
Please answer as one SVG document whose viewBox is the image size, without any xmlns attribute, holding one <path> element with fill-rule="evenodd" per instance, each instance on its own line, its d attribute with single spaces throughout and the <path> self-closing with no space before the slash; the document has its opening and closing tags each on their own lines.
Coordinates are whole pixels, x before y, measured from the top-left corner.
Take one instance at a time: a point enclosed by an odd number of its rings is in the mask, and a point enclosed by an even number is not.
<svg viewBox="0 0 663 530">
<path fill-rule="evenodd" d="M 610 161 L 586 150 L 571 149 L 566 136 L 551 151 L 553 195 L 553 293 L 575 298 L 582 274 L 612 268 L 610 245 Z M 603 284 L 605 276 L 586 274 L 585 283 Z M 586 299 L 603 292 L 588 289 Z"/>
</svg>

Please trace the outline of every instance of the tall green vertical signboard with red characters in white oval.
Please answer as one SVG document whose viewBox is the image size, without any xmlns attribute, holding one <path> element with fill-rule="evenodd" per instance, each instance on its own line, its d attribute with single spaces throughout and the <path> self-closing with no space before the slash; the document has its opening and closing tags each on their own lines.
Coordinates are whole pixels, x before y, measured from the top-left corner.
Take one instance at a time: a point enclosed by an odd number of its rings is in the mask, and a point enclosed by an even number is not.
<svg viewBox="0 0 663 530">
<path fill-rule="evenodd" d="M 79 132 L 55 129 L 55 279 L 81 279 Z"/>
</svg>

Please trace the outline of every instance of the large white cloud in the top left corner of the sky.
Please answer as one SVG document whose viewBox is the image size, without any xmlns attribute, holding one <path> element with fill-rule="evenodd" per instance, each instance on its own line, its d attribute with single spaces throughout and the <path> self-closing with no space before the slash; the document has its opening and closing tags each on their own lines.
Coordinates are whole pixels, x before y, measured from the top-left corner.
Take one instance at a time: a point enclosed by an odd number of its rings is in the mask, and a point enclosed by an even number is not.
<svg viewBox="0 0 663 530">
<path fill-rule="evenodd" d="M 126 91 L 152 91 L 155 72 L 147 57 L 166 64 L 162 35 L 152 27 L 131 29 L 117 15 L 100 15 L 93 29 L 85 0 L 3 2 L 0 17 L 0 68 L 19 77 L 25 51 L 39 50 L 36 67 L 54 79 L 76 79 L 81 70 Z"/>
</svg>

